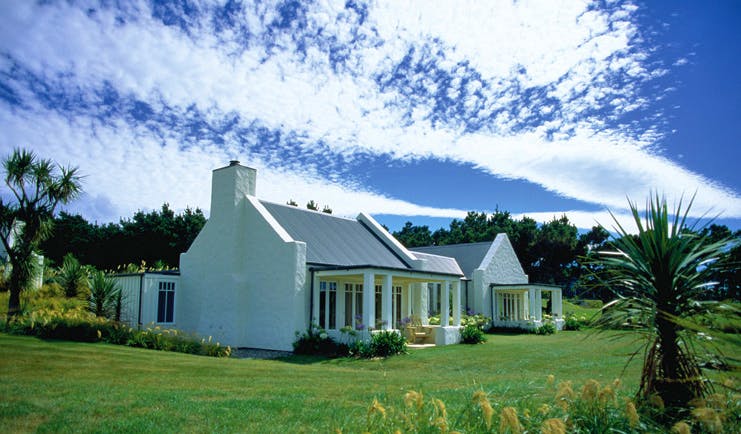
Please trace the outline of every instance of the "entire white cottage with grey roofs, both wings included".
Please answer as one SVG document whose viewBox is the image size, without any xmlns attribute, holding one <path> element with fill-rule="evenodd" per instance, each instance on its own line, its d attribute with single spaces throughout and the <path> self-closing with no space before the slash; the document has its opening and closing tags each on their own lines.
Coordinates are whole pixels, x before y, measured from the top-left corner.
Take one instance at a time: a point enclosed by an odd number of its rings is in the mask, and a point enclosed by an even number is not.
<svg viewBox="0 0 741 434">
<path fill-rule="evenodd" d="M 209 220 L 181 255 L 179 279 L 139 276 L 143 286 L 132 286 L 139 324 L 162 324 L 165 312 L 165 324 L 222 344 L 290 350 L 310 324 L 336 338 L 342 329 L 367 337 L 410 319 L 423 328 L 410 338 L 457 343 L 464 298 L 505 325 L 540 319 L 546 288 L 527 284 L 505 235 L 469 250 L 410 250 L 367 214 L 348 219 L 260 200 L 256 181 L 257 171 L 238 161 L 213 171 Z M 172 286 L 160 288 L 166 280 Z M 560 303 L 560 291 L 548 290 Z M 440 312 L 452 318 L 428 326 Z"/>
</svg>

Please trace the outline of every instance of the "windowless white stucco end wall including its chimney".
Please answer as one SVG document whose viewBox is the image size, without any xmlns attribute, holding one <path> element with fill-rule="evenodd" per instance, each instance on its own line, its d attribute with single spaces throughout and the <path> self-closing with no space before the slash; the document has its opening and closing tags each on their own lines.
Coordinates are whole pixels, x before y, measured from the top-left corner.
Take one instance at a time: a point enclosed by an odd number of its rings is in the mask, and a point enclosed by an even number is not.
<svg viewBox="0 0 741 434">
<path fill-rule="evenodd" d="M 308 324 L 306 245 L 255 199 L 253 169 L 229 166 L 213 177 L 209 220 L 180 257 L 178 326 L 223 345 L 290 350 Z"/>
</svg>

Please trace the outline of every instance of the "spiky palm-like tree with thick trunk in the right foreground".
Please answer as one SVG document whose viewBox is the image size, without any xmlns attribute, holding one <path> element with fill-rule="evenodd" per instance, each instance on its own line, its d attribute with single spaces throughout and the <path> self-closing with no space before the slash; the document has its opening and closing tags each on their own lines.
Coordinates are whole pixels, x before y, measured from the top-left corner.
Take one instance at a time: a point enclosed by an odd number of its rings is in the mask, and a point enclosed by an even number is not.
<svg viewBox="0 0 741 434">
<path fill-rule="evenodd" d="M 702 343 L 697 339 L 700 328 L 689 317 L 711 309 L 712 304 L 697 299 L 712 285 L 712 265 L 731 241 L 710 242 L 698 235 L 709 222 L 689 224 L 693 200 L 684 209 L 680 200 L 670 213 L 666 199 L 656 195 L 647 201 L 644 219 L 629 202 L 637 234 L 613 215 L 617 236 L 611 240 L 612 248 L 593 260 L 602 268 L 605 283 L 619 295 L 603 308 L 597 326 L 630 326 L 643 333 L 639 397 L 658 395 L 669 408 L 686 408 L 712 387 L 703 379 L 696 357 L 696 344 Z"/>
</svg>

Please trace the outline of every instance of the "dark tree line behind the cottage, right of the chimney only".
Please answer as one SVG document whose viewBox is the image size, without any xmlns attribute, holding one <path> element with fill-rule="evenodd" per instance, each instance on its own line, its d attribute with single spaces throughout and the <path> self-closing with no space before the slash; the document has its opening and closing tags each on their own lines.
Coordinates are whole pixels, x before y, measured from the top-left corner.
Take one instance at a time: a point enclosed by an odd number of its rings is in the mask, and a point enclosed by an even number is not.
<svg viewBox="0 0 741 434">
<path fill-rule="evenodd" d="M 393 235 L 407 247 L 447 245 L 492 241 L 498 233 L 506 233 L 531 282 L 556 284 L 564 288 L 567 296 L 588 298 L 614 297 L 601 285 L 602 270 L 591 265 L 588 258 L 600 249 L 609 247 L 610 234 L 595 226 L 579 234 L 576 226 L 564 215 L 538 225 L 529 217 L 519 220 L 506 211 L 493 214 L 469 212 L 463 220 L 453 220 L 447 229 L 431 231 L 428 226 L 415 226 L 407 222 Z M 711 241 L 733 236 L 741 240 L 741 231 L 732 233 L 723 225 L 711 225 L 699 236 Z M 741 297 L 741 244 L 729 246 L 726 256 L 716 266 L 714 278 L 718 282 L 708 296 L 713 298 Z M 723 271 L 720 271 L 723 270 Z"/>
</svg>

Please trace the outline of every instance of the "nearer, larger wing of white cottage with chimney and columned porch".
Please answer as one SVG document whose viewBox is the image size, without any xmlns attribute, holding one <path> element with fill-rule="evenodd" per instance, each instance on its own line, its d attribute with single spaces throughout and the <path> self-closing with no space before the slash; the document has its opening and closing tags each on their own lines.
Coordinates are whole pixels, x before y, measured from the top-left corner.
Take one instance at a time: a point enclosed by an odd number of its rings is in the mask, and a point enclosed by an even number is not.
<svg viewBox="0 0 741 434">
<path fill-rule="evenodd" d="M 236 161 L 214 170 L 209 220 L 180 257 L 179 328 L 236 347 L 289 350 L 311 323 L 337 337 L 343 327 L 396 329 L 411 316 L 424 323 L 433 283 L 441 311 L 456 314 L 431 337 L 458 342 L 463 272 L 453 258 L 406 249 L 366 214 L 262 201 L 256 175 Z"/>
</svg>

